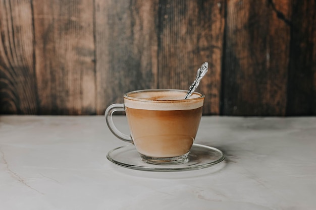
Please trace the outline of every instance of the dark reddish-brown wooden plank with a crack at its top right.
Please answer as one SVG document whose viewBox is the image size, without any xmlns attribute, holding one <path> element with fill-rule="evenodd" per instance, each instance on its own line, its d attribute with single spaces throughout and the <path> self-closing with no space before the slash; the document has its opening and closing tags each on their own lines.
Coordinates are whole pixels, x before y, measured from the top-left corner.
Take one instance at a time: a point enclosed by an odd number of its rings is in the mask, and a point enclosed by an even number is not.
<svg viewBox="0 0 316 210">
<path fill-rule="evenodd" d="M 289 5 L 288 0 L 228 1 L 223 115 L 285 115 Z"/>
</svg>

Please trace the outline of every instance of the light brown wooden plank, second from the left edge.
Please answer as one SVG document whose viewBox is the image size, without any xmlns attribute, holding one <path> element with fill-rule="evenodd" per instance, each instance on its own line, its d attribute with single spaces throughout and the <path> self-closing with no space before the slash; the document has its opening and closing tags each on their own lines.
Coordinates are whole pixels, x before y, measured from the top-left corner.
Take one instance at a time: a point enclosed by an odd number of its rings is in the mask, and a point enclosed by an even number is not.
<svg viewBox="0 0 316 210">
<path fill-rule="evenodd" d="M 34 0 L 39 114 L 94 114 L 93 4 Z"/>
</svg>

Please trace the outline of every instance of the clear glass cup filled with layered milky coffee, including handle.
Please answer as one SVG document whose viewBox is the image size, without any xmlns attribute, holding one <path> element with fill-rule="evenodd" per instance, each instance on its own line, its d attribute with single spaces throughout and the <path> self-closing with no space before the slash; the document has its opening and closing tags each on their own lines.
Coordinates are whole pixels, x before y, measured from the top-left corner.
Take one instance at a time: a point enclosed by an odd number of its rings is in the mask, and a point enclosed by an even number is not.
<svg viewBox="0 0 316 210">
<path fill-rule="evenodd" d="M 112 104 L 105 113 L 108 127 L 119 139 L 135 145 L 143 161 L 167 165 L 184 162 L 193 145 L 204 95 L 185 90 L 151 89 L 124 94 L 124 104 Z M 112 115 L 125 111 L 130 135 L 119 131 Z"/>
</svg>

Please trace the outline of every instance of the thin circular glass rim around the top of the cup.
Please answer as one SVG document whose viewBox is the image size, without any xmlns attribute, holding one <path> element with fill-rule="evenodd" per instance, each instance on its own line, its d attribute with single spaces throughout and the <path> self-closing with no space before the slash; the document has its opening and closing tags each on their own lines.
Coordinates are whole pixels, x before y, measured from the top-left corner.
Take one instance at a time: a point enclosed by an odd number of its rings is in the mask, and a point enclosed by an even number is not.
<svg viewBox="0 0 316 210">
<path fill-rule="evenodd" d="M 129 99 L 129 100 L 135 100 L 135 101 L 147 101 L 147 102 L 189 102 L 189 101 L 195 101 L 195 100 L 200 100 L 200 99 L 204 99 L 205 95 L 201 94 L 199 92 L 194 92 L 194 94 L 198 94 L 199 97 L 197 98 L 188 98 L 188 99 L 173 99 L 173 100 L 152 100 L 152 99 L 142 99 L 142 98 L 135 98 L 135 97 L 131 97 L 129 96 L 129 94 L 133 94 L 133 93 L 140 93 L 140 92 L 159 92 L 159 91 L 163 91 L 163 92 L 168 92 L 168 91 L 178 91 L 178 92 L 184 92 L 187 93 L 187 90 L 180 90 L 180 89 L 144 89 L 144 90 L 135 90 L 135 91 L 130 91 L 128 93 L 125 93 L 123 95 L 124 98 Z"/>
</svg>

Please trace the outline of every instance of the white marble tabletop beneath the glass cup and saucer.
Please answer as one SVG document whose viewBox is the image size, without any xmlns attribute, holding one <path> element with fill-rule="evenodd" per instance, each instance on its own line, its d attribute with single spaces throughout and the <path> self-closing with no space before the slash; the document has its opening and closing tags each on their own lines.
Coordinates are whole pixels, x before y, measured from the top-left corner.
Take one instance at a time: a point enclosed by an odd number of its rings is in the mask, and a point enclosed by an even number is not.
<svg viewBox="0 0 316 210">
<path fill-rule="evenodd" d="M 0 116 L 0 209 L 316 209 L 315 117 L 205 116 L 196 143 L 226 160 L 143 172 L 107 160 L 102 116 Z"/>
</svg>

